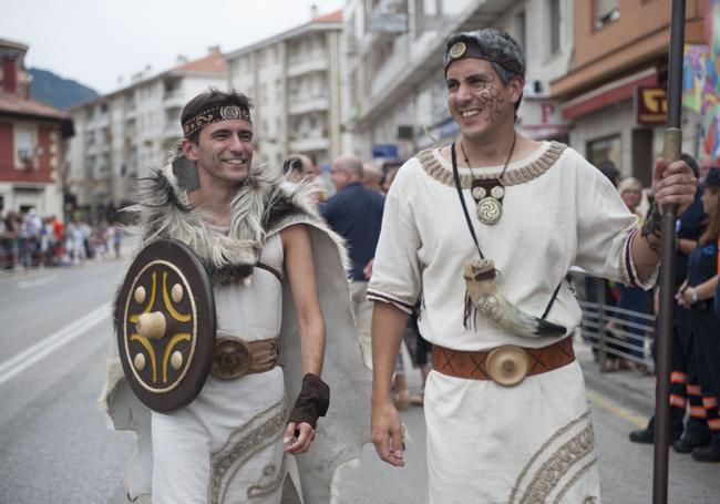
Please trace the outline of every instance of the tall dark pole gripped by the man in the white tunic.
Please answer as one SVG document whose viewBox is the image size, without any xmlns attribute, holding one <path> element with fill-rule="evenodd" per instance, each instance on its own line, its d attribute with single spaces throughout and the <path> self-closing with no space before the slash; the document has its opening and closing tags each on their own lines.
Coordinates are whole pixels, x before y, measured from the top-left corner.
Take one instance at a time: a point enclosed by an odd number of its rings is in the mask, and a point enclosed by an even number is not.
<svg viewBox="0 0 720 504">
<path fill-rule="evenodd" d="M 668 121 L 662 158 L 680 158 L 682 146 L 682 54 L 685 49 L 685 0 L 672 0 L 668 62 Z M 670 436 L 670 363 L 672 360 L 672 308 L 675 296 L 675 222 L 677 205 L 662 209 L 660 248 L 660 312 L 657 341 L 657 384 L 655 390 L 655 461 L 652 504 L 668 502 L 668 444 Z"/>
</svg>

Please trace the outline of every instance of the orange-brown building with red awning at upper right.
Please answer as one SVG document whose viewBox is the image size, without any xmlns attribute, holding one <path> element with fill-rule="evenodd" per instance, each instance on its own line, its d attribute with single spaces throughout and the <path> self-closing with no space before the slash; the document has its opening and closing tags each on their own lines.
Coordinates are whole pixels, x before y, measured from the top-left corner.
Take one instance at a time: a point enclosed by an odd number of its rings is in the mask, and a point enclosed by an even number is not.
<svg viewBox="0 0 720 504">
<path fill-rule="evenodd" d="M 574 51 L 551 94 L 572 122 L 569 143 L 646 186 L 662 151 L 671 0 L 574 0 Z M 703 0 L 687 0 L 686 44 L 703 44 Z M 701 119 L 683 110 L 683 151 L 698 153 Z"/>
</svg>

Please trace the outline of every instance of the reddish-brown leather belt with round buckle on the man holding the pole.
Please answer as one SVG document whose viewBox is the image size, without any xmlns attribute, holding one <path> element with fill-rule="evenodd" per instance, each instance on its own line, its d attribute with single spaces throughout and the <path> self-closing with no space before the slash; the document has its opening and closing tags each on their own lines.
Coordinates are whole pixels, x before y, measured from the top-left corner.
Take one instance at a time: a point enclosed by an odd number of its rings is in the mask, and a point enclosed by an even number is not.
<svg viewBox="0 0 720 504">
<path fill-rule="evenodd" d="M 435 371 L 456 378 L 493 380 L 512 387 L 534 374 L 553 371 L 575 360 L 573 338 L 543 348 L 505 344 L 488 351 L 463 351 L 433 344 Z"/>
</svg>

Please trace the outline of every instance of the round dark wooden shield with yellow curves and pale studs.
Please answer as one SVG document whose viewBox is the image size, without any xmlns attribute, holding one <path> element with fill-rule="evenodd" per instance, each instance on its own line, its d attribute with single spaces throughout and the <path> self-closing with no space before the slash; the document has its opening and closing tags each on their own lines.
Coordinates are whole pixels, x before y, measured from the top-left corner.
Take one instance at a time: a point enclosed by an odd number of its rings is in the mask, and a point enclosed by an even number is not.
<svg viewBox="0 0 720 504">
<path fill-rule="evenodd" d="M 125 378 L 147 408 L 168 412 L 199 393 L 215 352 L 215 298 L 203 264 L 177 240 L 135 257 L 115 313 Z"/>
</svg>

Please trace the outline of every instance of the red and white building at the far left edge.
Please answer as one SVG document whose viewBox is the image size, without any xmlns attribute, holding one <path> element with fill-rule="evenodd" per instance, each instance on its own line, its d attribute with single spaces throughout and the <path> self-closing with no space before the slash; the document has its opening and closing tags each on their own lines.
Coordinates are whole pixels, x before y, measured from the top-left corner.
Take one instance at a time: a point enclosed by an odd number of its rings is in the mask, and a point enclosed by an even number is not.
<svg viewBox="0 0 720 504">
<path fill-rule="evenodd" d="M 0 213 L 63 215 L 65 140 L 70 114 L 30 95 L 28 45 L 0 39 Z"/>
</svg>

